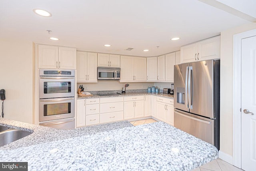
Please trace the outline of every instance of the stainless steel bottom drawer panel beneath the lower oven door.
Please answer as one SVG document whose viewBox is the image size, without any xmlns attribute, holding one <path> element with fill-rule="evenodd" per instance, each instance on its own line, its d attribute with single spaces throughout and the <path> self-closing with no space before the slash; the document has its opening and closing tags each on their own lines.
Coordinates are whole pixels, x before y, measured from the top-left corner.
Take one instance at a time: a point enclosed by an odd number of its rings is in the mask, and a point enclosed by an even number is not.
<svg viewBox="0 0 256 171">
<path fill-rule="evenodd" d="M 46 127 L 52 127 L 52 128 L 56 128 L 56 129 L 74 129 L 75 128 L 75 118 L 46 121 L 43 123 L 39 123 L 39 125 L 46 126 Z"/>
</svg>

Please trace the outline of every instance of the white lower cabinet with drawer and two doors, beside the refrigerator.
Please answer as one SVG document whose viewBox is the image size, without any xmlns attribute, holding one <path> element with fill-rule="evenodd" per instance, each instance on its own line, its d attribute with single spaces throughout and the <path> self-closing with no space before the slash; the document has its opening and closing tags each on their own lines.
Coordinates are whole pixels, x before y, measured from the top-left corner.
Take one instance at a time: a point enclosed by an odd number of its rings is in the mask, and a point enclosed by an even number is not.
<svg viewBox="0 0 256 171">
<path fill-rule="evenodd" d="M 156 97 L 157 119 L 174 126 L 173 99 Z"/>
</svg>

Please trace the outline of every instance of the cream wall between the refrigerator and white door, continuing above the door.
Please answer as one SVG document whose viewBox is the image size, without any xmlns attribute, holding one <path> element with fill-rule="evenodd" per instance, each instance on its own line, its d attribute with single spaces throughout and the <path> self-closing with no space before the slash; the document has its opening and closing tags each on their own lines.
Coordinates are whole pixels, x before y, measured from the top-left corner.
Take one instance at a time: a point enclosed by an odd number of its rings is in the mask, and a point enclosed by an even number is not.
<svg viewBox="0 0 256 171">
<path fill-rule="evenodd" d="M 221 32 L 220 38 L 220 151 L 233 155 L 233 36 L 256 28 L 245 24 Z"/>
</svg>

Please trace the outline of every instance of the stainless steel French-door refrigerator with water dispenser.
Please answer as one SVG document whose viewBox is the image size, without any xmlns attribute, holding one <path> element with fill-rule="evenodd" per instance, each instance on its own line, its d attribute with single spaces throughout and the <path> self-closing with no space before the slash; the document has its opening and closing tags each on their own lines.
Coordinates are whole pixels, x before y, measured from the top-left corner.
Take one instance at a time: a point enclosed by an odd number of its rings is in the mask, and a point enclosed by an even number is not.
<svg viewBox="0 0 256 171">
<path fill-rule="evenodd" d="M 174 66 L 174 127 L 220 146 L 220 60 Z"/>
</svg>

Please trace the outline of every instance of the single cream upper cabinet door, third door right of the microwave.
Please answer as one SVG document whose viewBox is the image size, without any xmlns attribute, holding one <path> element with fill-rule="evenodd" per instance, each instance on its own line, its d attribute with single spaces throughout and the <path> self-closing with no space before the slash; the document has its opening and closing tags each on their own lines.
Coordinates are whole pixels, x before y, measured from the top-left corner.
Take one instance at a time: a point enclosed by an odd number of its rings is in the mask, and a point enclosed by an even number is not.
<svg viewBox="0 0 256 171">
<path fill-rule="evenodd" d="M 147 58 L 147 81 L 157 80 L 157 57 Z"/>
</svg>

